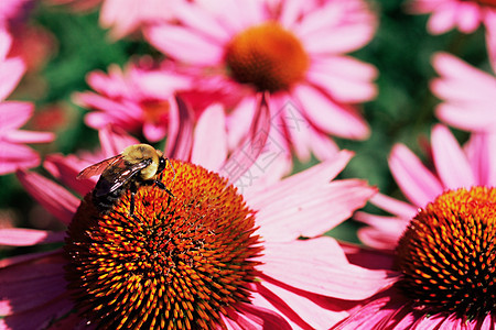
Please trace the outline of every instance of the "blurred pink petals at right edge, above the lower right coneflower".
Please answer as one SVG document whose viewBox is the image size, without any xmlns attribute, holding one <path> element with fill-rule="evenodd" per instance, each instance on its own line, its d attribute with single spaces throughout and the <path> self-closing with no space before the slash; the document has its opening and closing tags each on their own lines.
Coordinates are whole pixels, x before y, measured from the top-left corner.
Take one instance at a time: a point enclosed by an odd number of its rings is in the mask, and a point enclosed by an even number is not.
<svg viewBox="0 0 496 330">
<path fill-rule="evenodd" d="M 435 109 L 438 118 L 466 131 L 494 131 L 494 74 L 482 72 L 446 53 L 436 53 L 432 63 L 440 77 L 432 80 L 431 90 L 443 100 Z"/>
</svg>

